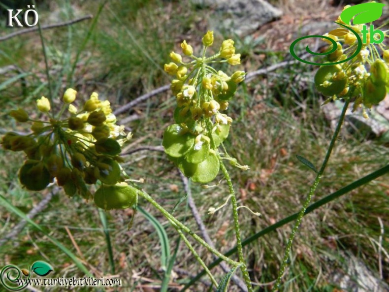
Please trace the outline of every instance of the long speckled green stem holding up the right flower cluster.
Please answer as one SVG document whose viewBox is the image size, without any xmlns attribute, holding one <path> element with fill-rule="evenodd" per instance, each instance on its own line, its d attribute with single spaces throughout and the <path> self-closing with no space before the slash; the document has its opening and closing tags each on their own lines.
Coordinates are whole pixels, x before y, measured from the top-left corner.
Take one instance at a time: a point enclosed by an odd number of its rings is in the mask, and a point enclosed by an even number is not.
<svg viewBox="0 0 389 292">
<path fill-rule="evenodd" d="M 315 181 L 314 181 L 314 183 L 313 183 L 313 185 L 312 185 L 312 187 L 311 187 L 311 189 L 309 191 L 309 194 L 308 194 L 307 198 L 305 199 L 305 201 L 303 203 L 303 206 L 302 206 L 300 212 L 298 213 L 297 220 L 296 220 L 296 222 L 295 222 L 295 224 L 294 224 L 294 226 L 292 228 L 291 236 L 288 239 L 288 244 L 287 244 L 287 247 L 285 249 L 284 258 L 282 260 L 282 264 L 281 264 L 281 267 L 280 267 L 280 271 L 278 273 L 277 281 L 276 281 L 276 283 L 273 286 L 272 292 L 278 291 L 278 288 L 279 288 L 280 283 L 281 283 L 281 279 L 282 279 L 282 277 L 284 275 L 284 272 L 285 272 L 285 268 L 286 268 L 286 266 L 288 264 L 287 262 L 288 262 L 288 259 L 289 259 L 289 254 L 290 254 L 291 249 L 292 249 L 293 239 L 294 239 L 294 237 L 296 235 L 298 227 L 301 224 L 301 221 L 302 221 L 302 218 L 304 216 L 305 210 L 307 209 L 307 207 L 308 207 L 308 205 L 309 205 L 309 203 L 310 203 L 310 201 L 312 199 L 312 196 L 315 194 L 315 191 L 316 191 L 316 189 L 317 189 L 317 187 L 318 187 L 318 185 L 320 183 L 320 179 L 321 179 L 321 177 L 322 177 L 322 175 L 324 173 L 324 169 L 325 169 L 325 166 L 327 165 L 329 157 L 331 156 L 331 152 L 332 152 L 333 146 L 335 144 L 336 138 L 338 137 L 339 131 L 340 131 L 341 127 L 342 127 L 342 124 L 343 124 L 344 118 L 346 116 L 346 111 L 347 111 L 347 108 L 348 108 L 349 104 L 350 104 L 350 100 L 346 100 L 345 104 L 343 106 L 342 113 L 341 113 L 340 118 L 339 118 L 339 122 L 336 125 L 335 132 L 332 135 L 331 142 L 329 143 L 327 152 L 325 154 L 323 164 L 320 167 L 320 170 L 319 170 L 319 172 L 316 175 Z"/>
</svg>

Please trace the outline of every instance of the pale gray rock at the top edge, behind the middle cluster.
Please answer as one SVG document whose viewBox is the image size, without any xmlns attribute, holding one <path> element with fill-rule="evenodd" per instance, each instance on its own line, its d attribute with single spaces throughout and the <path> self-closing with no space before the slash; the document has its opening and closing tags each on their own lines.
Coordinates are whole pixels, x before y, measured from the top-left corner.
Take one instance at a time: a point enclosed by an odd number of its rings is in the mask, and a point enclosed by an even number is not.
<svg viewBox="0 0 389 292">
<path fill-rule="evenodd" d="M 265 0 L 192 0 L 196 5 L 215 10 L 209 19 L 211 29 L 247 35 L 282 15 Z"/>
</svg>

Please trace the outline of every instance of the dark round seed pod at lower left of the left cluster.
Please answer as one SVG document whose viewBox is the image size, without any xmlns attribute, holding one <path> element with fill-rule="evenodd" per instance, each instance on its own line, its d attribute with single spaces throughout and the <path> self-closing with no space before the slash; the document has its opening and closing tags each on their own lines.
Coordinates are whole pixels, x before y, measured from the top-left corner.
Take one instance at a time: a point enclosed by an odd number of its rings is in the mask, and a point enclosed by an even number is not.
<svg viewBox="0 0 389 292">
<path fill-rule="evenodd" d="M 20 168 L 19 181 L 30 191 L 41 191 L 50 183 L 50 174 L 42 162 L 27 161 Z"/>
</svg>

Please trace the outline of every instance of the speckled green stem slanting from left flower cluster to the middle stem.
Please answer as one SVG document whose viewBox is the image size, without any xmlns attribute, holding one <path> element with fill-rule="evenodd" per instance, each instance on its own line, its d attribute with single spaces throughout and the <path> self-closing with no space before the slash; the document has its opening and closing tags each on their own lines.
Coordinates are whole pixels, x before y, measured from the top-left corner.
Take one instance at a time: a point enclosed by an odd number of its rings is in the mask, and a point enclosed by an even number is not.
<svg viewBox="0 0 389 292">
<path fill-rule="evenodd" d="M 163 216 L 166 217 L 167 220 L 170 221 L 170 224 L 173 225 L 174 228 L 180 228 L 181 230 L 183 230 L 184 232 L 188 233 L 189 235 L 191 235 L 195 241 L 197 241 L 199 244 L 201 244 L 202 246 L 204 246 L 207 250 L 209 250 L 211 253 L 213 253 L 214 255 L 218 256 L 219 258 L 227 261 L 229 264 L 233 265 L 233 266 L 238 266 L 240 263 L 235 261 L 235 260 L 231 260 L 229 258 L 227 258 L 226 256 L 224 256 L 222 253 L 220 253 L 219 251 L 217 251 L 216 249 L 212 248 L 211 246 L 209 246 L 208 243 L 206 243 L 200 236 L 198 236 L 197 234 L 195 234 L 191 229 L 189 229 L 188 227 L 186 227 L 184 224 L 182 224 L 180 221 L 178 221 L 173 215 L 171 215 L 169 212 L 167 212 L 159 203 L 157 203 L 149 194 L 147 194 L 146 192 L 144 191 L 139 191 L 138 195 L 142 196 L 143 198 L 145 198 L 148 202 L 150 202 L 154 207 L 156 207 L 161 213 Z"/>
</svg>

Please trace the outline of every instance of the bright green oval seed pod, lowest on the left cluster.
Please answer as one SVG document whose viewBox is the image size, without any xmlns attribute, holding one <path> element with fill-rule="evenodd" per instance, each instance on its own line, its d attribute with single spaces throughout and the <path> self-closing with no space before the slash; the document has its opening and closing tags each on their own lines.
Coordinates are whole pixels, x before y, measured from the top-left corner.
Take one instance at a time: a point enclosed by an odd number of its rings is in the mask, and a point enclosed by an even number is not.
<svg viewBox="0 0 389 292">
<path fill-rule="evenodd" d="M 126 209 L 136 206 L 138 190 L 127 183 L 101 186 L 95 193 L 95 204 L 104 210 Z"/>
</svg>

